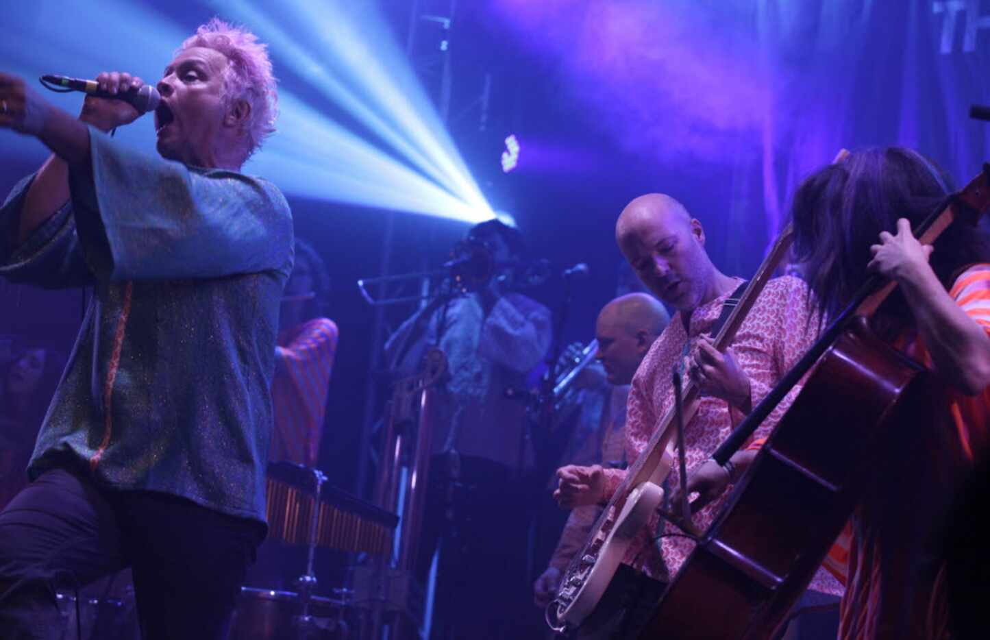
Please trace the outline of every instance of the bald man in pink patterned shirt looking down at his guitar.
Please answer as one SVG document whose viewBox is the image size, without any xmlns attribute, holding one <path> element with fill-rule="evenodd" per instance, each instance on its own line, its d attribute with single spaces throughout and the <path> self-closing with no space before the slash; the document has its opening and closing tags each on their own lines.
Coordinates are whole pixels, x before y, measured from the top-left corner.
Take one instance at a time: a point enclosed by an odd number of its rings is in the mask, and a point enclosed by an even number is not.
<svg viewBox="0 0 990 640">
<path fill-rule="evenodd" d="M 737 454 L 726 468 L 710 456 L 815 338 L 817 323 L 809 317 L 808 288 L 791 276 L 770 280 L 723 354 L 714 348 L 709 334 L 726 300 L 735 291 L 742 293 L 743 279 L 712 263 L 701 222 L 670 196 L 648 194 L 623 210 L 616 241 L 649 290 L 676 311 L 633 377 L 627 406 L 629 462 L 635 463 L 644 452 L 653 429 L 673 405 L 672 370 L 686 370 L 702 394 L 697 412 L 685 425 L 684 440 L 688 489 L 701 493 L 702 503 L 709 501 L 694 519 L 703 530 L 722 506 L 725 489 L 742 476 L 753 454 Z M 797 389 L 781 403 L 755 438 L 765 437 L 796 393 Z M 565 467 L 557 472 L 555 496 L 563 506 L 602 503 L 612 497 L 625 475 L 625 470 L 599 466 Z M 669 483 L 676 494 L 676 474 Z M 631 545 L 578 637 L 630 637 L 644 624 L 662 588 L 694 547 L 691 540 L 677 535 L 681 533 L 653 518 Z M 826 590 L 830 577 L 821 578 L 824 583 L 818 587 Z M 829 586 L 834 590 L 838 584 L 833 581 Z"/>
</svg>

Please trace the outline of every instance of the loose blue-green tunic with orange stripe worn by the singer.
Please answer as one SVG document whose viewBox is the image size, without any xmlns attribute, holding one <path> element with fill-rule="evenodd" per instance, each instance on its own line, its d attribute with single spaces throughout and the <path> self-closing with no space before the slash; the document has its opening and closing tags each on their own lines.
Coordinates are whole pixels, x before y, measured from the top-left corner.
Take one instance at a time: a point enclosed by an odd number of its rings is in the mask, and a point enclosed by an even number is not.
<svg viewBox="0 0 990 640">
<path fill-rule="evenodd" d="M 271 183 L 90 129 L 69 202 L 19 247 L 33 177 L 0 208 L 0 275 L 93 295 L 29 475 L 70 467 L 264 520 L 275 334 L 292 219 Z"/>
</svg>

